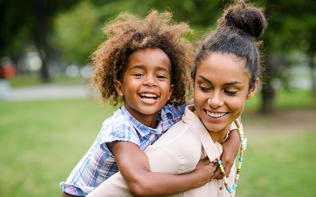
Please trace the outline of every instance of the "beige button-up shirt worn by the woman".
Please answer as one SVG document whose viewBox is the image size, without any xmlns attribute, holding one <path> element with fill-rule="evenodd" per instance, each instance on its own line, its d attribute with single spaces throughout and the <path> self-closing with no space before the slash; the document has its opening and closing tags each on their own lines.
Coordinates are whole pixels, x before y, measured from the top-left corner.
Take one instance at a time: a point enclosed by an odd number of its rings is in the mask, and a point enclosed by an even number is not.
<svg viewBox="0 0 316 197">
<path fill-rule="evenodd" d="M 172 126 L 160 139 L 144 151 L 153 172 L 183 174 L 195 169 L 199 160 L 209 157 L 210 161 L 219 157 L 219 152 L 200 119 L 192 112 L 194 106 L 187 106 L 182 121 Z M 236 129 L 235 123 L 230 130 Z M 228 136 L 228 135 L 227 135 Z M 226 138 L 227 138 L 226 136 Z M 236 166 L 232 166 L 228 185 L 234 184 Z M 112 175 L 87 196 L 132 196 L 121 174 Z M 213 180 L 206 185 L 172 195 L 180 196 L 230 196 L 223 179 Z"/>
</svg>

